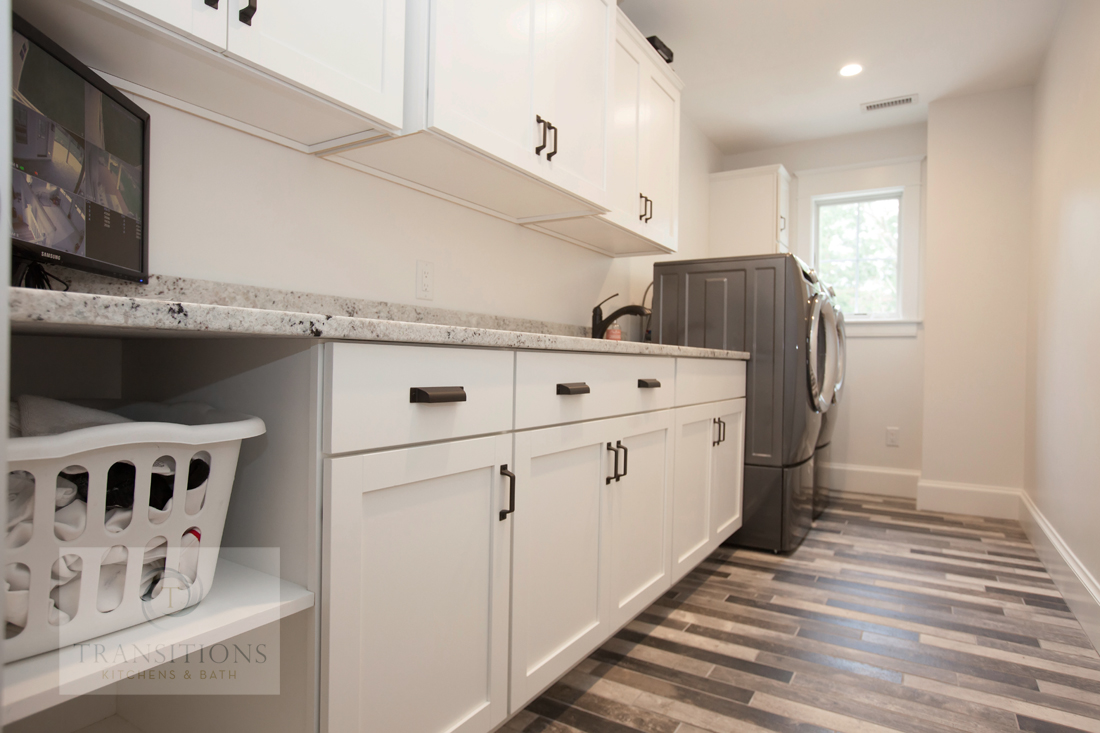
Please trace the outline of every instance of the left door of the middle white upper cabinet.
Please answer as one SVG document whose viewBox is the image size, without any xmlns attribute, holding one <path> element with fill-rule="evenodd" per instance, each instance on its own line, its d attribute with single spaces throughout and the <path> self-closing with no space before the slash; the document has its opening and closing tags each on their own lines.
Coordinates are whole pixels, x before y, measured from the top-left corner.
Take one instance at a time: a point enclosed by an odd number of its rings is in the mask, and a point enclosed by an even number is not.
<svg viewBox="0 0 1100 733">
<path fill-rule="evenodd" d="M 435 0 L 428 127 L 535 168 L 536 0 Z"/>
</svg>

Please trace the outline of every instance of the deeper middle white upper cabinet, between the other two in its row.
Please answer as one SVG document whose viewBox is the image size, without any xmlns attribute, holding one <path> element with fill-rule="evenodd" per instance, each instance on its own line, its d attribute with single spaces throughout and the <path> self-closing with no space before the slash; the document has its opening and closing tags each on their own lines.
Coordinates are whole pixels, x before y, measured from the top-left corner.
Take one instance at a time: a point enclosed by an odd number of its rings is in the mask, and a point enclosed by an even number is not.
<svg viewBox="0 0 1100 733">
<path fill-rule="evenodd" d="M 606 210 L 614 2 L 408 11 L 405 134 L 333 154 L 517 223 Z"/>
</svg>

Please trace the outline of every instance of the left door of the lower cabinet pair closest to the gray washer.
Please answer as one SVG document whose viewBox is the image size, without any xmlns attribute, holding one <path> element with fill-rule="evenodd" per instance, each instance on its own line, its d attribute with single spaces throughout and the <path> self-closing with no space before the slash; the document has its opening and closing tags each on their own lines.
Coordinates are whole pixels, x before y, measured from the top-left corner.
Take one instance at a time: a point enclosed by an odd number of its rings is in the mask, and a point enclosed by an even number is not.
<svg viewBox="0 0 1100 733">
<path fill-rule="evenodd" d="M 712 450 L 718 439 L 714 404 L 675 411 L 672 501 L 672 581 L 711 553 Z"/>
</svg>

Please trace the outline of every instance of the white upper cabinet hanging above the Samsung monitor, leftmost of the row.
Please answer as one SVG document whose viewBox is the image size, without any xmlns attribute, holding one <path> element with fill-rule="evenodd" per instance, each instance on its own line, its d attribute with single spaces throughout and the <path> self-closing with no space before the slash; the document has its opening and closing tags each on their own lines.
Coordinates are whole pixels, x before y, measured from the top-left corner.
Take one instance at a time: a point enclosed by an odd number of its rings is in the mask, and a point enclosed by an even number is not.
<svg viewBox="0 0 1100 733">
<path fill-rule="evenodd" d="M 317 154 L 400 130 L 405 2 L 13 0 L 12 9 L 128 94 Z"/>
</svg>

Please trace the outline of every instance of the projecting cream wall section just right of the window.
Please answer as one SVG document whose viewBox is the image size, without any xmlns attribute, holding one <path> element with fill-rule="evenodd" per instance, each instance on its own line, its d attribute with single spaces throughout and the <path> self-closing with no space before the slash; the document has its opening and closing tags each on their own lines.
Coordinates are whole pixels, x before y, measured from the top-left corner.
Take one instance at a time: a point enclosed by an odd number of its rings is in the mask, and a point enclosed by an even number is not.
<svg viewBox="0 0 1100 733">
<path fill-rule="evenodd" d="M 1032 152 L 1031 87 L 930 106 L 919 506 L 1023 486 Z"/>
</svg>

